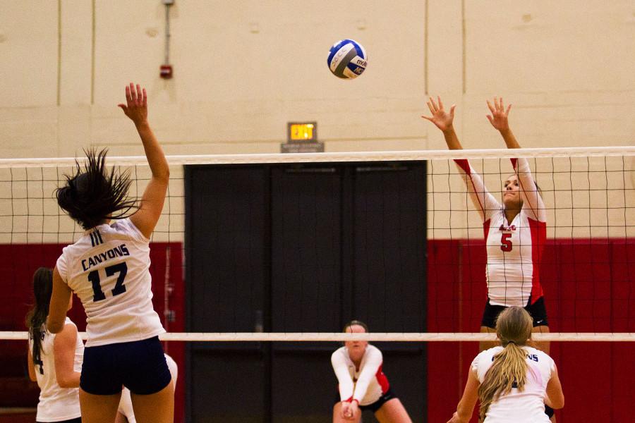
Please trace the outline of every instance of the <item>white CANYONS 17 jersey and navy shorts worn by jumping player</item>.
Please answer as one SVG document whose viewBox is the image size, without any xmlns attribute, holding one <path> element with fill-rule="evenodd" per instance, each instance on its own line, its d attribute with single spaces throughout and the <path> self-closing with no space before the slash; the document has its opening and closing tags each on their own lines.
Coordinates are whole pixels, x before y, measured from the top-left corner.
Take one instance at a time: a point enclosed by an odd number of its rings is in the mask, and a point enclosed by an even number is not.
<svg viewBox="0 0 635 423">
<path fill-rule="evenodd" d="M 88 340 L 80 387 L 94 395 L 157 393 L 170 382 L 159 341 L 165 330 L 152 307 L 150 240 L 131 219 L 86 231 L 57 260 L 80 298 Z"/>
</svg>

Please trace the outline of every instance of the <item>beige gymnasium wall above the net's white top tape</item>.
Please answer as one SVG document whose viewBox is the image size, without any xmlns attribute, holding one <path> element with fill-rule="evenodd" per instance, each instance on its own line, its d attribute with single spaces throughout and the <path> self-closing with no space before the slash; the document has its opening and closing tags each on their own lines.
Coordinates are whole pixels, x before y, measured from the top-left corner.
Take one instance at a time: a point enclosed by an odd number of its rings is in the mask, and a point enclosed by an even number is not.
<svg viewBox="0 0 635 423">
<path fill-rule="evenodd" d="M 168 154 L 278 152 L 286 122 L 303 119 L 329 152 L 444 148 L 419 118 L 427 94 L 457 104 L 467 148 L 502 147 L 485 119 L 498 94 L 526 147 L 631 145 L 635 133 L 629 0 L 176 0 L 169 81 L 159 0 L 0 7 L 0 157 L 141 154 L 116 108 L 131 80 L 148 88 Z M 343 37 L 368 50 L 358 80 L 327 71 Z"/>
</svg>

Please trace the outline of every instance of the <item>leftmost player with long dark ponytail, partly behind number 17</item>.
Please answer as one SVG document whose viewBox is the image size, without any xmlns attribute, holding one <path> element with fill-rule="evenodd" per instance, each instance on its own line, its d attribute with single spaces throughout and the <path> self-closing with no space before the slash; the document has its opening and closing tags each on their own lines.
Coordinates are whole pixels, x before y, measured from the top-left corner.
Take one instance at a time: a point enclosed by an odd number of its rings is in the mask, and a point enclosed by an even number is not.
<svg viewBox="0 0 635 423">
<path fill-rule="evenodd" d="M 53 271 L 40 267 L 33 275 L 35 303 L 26 323 L 29 329 L 29 378 L 40 386 L 36 422 L 80 423 L 79 382 L 84 344 L 77 326 L 66 317 L 59 333 L 47 331 Z M 68 302 L 71 309 L 73 301 Z"/>
</svg>

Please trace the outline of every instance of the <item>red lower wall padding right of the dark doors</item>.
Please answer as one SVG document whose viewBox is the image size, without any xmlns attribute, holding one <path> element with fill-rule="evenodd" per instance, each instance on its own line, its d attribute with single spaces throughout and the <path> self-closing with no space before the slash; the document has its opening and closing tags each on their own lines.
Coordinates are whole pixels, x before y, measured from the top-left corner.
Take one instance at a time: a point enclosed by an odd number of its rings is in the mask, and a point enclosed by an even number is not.
<svg viewBox="0 0 635 423">
<path fill-rule="evenodd" d="M 540 269 L 551 331 L 635 332 L 635 240 L 550 240 Z M 482 241 L 428 242 L 429 332 L 478 331 L 486 295 Z M 452 416 L 477 353 L 475 342 L 428 343 L 429 422 Z M 552 343 L 550 355 L 558 422 L 631 421 L 635 343 Z"/>
</svg>

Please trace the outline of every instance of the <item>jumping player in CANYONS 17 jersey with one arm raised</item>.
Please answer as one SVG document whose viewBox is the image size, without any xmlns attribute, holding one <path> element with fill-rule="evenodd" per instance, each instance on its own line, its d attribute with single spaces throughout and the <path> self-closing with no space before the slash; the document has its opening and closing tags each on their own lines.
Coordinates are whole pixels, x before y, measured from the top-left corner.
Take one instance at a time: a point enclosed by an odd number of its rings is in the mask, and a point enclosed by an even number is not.
<svg viewBox="0 0 635 423">
<path fill-rule="evenodd" d="M 174 385 L 158 337 L 164 329 L 152 307 L 149 244 L 169 166 L 147 121 L 145 89 L 127 86 L 126 104 L 119 107 L 135 124 L 152 176 L 140 202 L 128 198 L 128 173 L 107 170 L 106 150 L 88 151 L 87 164 L 66 176 L 57 202 L 85 233 L 57 260 L 47 325 L 53 333 L 61 330 L 75 292 L 87 316 L 83 422 L 114 422 L 126 386 L 139 423 L 168 423 L 174 419 Z"/>
</svg>

